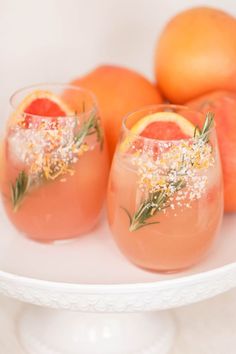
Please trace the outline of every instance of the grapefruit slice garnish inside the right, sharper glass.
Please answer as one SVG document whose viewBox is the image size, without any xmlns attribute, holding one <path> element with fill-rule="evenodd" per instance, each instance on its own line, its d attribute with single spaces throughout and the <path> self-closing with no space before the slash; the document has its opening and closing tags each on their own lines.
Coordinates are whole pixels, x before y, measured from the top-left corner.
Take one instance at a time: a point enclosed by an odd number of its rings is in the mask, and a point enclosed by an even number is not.
<svg viewBox="0 0 236 354">
<path fill-rule="evenodd" d="M 140 119 L 130 129 L 130 135 L 121 144 L 121 151 L 129 149 L 137 137 L 170 141 L 189 139 L 194 136 L 195 126 L 174 112 L 157 112 Z M 137 141 L 136 141 L 137 143 Z M 140 147 L 140 141 L 137 144 Z"/>
</svg>

